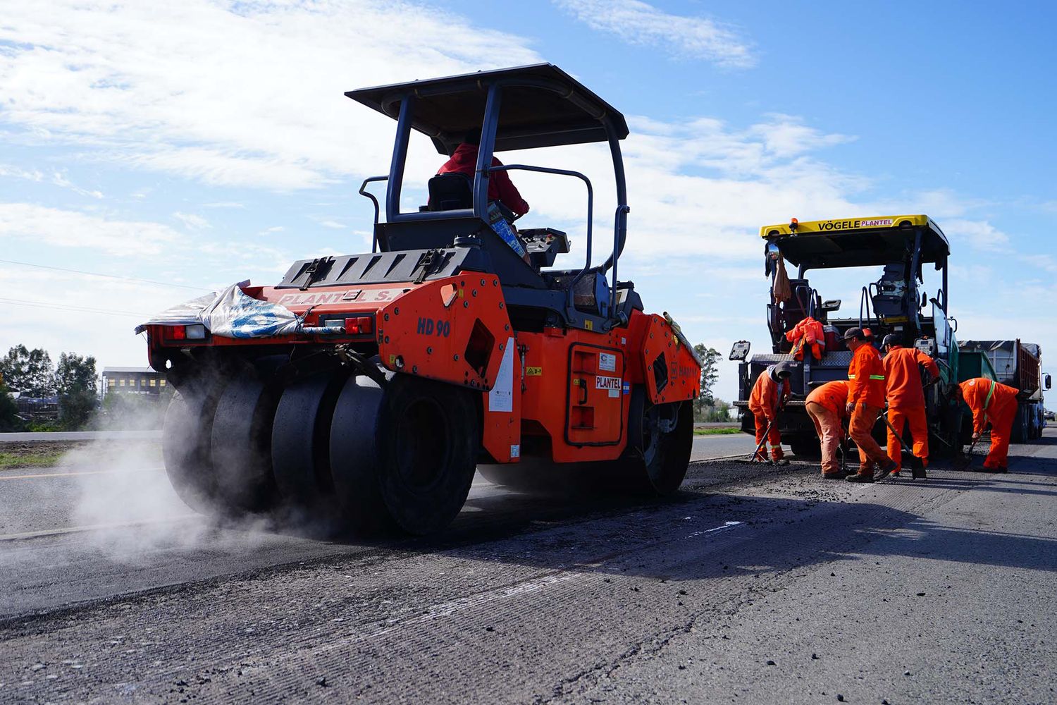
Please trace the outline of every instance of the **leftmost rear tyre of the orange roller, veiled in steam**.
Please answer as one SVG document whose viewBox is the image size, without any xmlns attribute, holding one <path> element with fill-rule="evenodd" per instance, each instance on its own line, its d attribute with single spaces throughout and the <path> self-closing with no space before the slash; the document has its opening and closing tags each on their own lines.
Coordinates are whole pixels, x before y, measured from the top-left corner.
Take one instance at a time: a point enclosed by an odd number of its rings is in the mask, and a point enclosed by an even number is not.
<svg viewBox="0 0 1057 705">
<path fill-rule="evenodd" d="M 177 392 L 162 429 L 165 474 L 180 499 L 200 514 L 216 509 L 217 483 L 209 444 L 219 396 L 220 390 L 216 389 Z"/>
</svg>

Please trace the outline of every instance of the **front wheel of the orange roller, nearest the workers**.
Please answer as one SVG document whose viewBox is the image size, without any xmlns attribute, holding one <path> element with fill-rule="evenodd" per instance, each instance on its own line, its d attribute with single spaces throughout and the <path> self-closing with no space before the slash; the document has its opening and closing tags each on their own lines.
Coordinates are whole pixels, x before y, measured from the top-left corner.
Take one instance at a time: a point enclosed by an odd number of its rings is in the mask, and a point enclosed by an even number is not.
<svg viewBox="0 0 1057 705">
<path fill-rule="evenodd" d="M 652 405 L 641 385 L 631 390 L 629 407 L 630 479 L 659 495 L 670 495 L 683 484 L 690 464 L 693 408 L 689 403 Z"/>
</svg>

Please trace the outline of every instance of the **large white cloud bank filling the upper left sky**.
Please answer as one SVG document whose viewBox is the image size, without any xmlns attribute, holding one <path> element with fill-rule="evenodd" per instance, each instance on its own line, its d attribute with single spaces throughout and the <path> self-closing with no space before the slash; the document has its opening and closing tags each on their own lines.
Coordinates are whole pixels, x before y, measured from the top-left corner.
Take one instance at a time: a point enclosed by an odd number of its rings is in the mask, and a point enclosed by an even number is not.
<svg viewBox="0 0 1057 705">
<path fill-rule="evenodd" d="M 398 1 L 55 0 L 3 14 L 11 137 L 214 185 L 374 173 L 392 120 L 344 91 L 540 60 L 518 37 Z"/>
</svg>

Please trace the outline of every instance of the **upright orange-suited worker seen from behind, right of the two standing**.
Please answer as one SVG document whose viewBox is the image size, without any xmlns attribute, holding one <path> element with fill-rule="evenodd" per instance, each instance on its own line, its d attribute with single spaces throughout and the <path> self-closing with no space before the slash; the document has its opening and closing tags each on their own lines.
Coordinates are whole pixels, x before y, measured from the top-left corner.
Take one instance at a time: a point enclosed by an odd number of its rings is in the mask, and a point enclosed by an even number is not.
<svg viewBox="0 0 1057 705">
<path fill-rule="evenodd" d="M 895 463 L 894 475 L 900 474 L 903 458 L 904 426 L 910 426 L 914 456 L 928 466 L 928 422 L 925 418 L 925 388 L 922 386 L 921 367 L 935 381 L 940 368 L 935 360 L 916 348 L 904 348 L 896 335 L 886 335 L 880 349 L 885 351 L 885 387 L 888 398 L 888 457 Z M 896 435 L 898 434 L 898 435 Z"/>
</svg>

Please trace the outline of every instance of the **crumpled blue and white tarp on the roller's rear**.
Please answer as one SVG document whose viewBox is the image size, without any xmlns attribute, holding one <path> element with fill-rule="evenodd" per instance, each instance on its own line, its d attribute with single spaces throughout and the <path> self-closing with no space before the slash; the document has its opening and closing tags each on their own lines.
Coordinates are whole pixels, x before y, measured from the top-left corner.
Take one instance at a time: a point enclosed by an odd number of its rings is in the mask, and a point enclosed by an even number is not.
<svg viewBox="0 0 1057 705">
<path fill-rule="evenodd" d="M 277 303 L 246 296 L 242 286 L 231 284 L 219 294 L 207 294 L 167 309 L 146 323 L 136 326 L 142 333 L 147 326 L 193 326 L 201 323 L 212 335 L 227 338 L 264 338 L 297 333 L 301 319 Z"/>
</svg>

